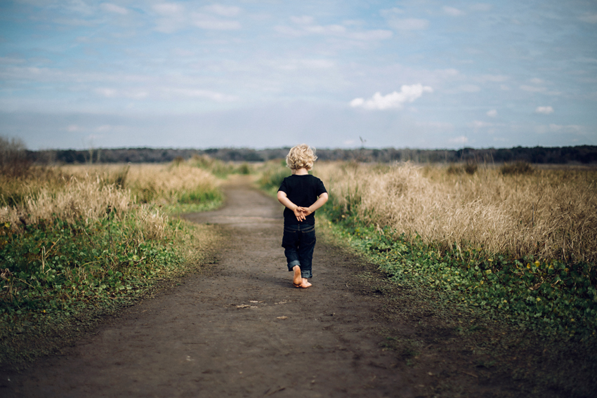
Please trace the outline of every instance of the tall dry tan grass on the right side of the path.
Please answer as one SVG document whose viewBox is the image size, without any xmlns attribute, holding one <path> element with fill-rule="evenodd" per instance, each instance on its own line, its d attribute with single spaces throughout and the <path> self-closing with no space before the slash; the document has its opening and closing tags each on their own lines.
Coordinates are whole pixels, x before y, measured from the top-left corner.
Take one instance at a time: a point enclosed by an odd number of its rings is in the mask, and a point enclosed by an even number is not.
<svg viewBox="0 0 597 398">
<path fill-rule="evenodd" d="M 597 171 L 473 175 L 445 166 L 321 163 L 337 206 L 444 248 L 565 261 L 597 260 Z"/>
</svg>

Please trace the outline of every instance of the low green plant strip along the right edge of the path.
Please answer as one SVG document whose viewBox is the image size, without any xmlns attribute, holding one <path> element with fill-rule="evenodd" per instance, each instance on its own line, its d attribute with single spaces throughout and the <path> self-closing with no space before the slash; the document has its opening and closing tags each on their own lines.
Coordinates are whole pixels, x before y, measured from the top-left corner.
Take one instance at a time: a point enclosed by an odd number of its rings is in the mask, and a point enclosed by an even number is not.
<svg viewBox="0 0 597 398">
<path fill-rule="evenodd" d="M 459 307 L 539 333 L 596 337 L 597 290 L 591 280 L 597 275 L 590 264 L 539 263 L 531 256 L 492 256 L 482 248 L 440 251 L 419 237 L 365 225 L 355 206 L 347 211 L 332 200 L 319 213 L 398 284 L 431 288 Z"/>
</svg>

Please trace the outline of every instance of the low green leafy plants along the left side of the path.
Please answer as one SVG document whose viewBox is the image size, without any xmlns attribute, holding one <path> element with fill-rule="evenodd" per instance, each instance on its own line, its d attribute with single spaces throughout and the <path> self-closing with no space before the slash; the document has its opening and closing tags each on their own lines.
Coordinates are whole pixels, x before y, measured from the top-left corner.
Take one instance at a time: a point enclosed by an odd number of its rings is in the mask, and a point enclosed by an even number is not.
<svg viewBox="0 0 597 398">
<path fill-rule="evenodd" d="M 55 219 L 22 233 L 3 226 L 0 257 L 10 274 L 2 290 L 1 329 L 134 296 L 152 278 L 184 261 L 176 239 L 145 239 L 136 221 L 134 216 L 115 220 L 110 215 L 93 223 Z M 185 231 L 171 222 L 168 233 Z"/>
</svg>

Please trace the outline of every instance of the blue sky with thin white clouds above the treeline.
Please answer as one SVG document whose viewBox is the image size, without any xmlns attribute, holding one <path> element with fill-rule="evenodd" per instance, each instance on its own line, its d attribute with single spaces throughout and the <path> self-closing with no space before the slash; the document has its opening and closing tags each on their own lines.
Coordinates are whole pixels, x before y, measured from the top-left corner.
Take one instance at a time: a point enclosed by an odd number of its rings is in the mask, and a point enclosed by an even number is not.
<svg viewBox="0 0 597 398">
<path fill-rule="evenodd" d="M 0 1 L 32 150 L 597 145 L 597 1 Z"/>
</svg>

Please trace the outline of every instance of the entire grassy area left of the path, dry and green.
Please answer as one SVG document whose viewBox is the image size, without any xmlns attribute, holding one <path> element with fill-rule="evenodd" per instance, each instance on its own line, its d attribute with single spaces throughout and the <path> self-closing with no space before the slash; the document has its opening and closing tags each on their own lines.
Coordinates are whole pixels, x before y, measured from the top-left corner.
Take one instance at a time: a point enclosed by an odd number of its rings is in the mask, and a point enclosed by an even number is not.
<svg viewBox="0 0 597 398">
<path fill-rule="evenodd" d="M 0 364 L 191 272 L 217 232 L 169 215 L 223 201 L 188 164 L 34 166 L 0 186 Z"/>
</svg>

